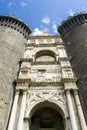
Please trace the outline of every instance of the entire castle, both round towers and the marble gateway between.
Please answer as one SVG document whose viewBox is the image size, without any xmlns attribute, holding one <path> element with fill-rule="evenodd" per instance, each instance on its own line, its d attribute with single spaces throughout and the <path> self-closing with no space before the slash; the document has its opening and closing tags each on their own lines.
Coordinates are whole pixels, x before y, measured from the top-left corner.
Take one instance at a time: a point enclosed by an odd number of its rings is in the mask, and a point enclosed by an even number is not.
<svg viewBox="0 0 87 130">
<path fill-rule="evenodd" d="M 87 130 L 87 14 L 58 32 L 0 15 L 0 130 Z"/>
</svg>

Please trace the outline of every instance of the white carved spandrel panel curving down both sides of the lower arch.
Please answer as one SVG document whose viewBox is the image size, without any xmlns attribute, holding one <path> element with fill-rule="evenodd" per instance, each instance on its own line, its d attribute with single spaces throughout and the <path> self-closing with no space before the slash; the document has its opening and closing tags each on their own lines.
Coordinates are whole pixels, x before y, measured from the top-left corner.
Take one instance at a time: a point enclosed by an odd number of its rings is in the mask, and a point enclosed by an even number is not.
<svg viewBox="0 0 87 130">
<path fill-rule="evenodd" d="M 34 105 L 47 100 L 61 106 L 61 108 L 63 108 L 67 114 L 67 105 L 64 90 L 28 90 L 25 116 L 28 116 L 30 110 L 34 107 Z"/>
</svg>

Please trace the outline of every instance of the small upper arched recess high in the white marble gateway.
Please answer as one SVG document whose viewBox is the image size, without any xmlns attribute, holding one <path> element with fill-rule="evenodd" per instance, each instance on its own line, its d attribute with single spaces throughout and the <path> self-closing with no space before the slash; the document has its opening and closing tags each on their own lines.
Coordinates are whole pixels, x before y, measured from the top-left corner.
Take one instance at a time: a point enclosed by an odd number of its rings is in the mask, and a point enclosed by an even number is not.
<svg viewBox="0 0 87 130">
<path fill-rule="evenodd" d="M 36 61 L 55 61 L 56 55 L 51 50 L 40 50 L 35 55 Z"/>
</svg>

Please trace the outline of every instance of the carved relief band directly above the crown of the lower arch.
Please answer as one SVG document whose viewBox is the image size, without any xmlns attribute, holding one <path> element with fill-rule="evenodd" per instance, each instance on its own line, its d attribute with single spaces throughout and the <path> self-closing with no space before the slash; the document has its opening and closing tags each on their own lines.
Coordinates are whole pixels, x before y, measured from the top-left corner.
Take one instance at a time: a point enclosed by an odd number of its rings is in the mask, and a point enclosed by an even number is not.
<svg viewBox="0 0 87 130">
<path fill-rule="evenodd" d="M 42 90 L 40 92 L 28 92 L 27 94 L 27 107 L 29 105 L 35 104 L 37 101 L 40 100 L 52 100 L 56 103 L 61 103 L 63 106 L 66 106 L 66 98 L 64 91 L 49 91 L 49 90 Z"/>
</svg>

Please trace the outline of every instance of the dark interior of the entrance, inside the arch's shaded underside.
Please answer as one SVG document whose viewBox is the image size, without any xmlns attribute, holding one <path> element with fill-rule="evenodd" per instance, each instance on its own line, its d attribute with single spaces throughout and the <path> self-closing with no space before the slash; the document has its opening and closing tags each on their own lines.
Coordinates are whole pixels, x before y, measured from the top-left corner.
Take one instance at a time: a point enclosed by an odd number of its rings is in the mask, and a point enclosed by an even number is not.
<svg viewBox="0 0 87 130">
<path fill-rule="evenodd" d="M 31 117 L 30 130 L 64 130 L 63 118 L 53 108 L 40 108 Z"/>
</svg>

